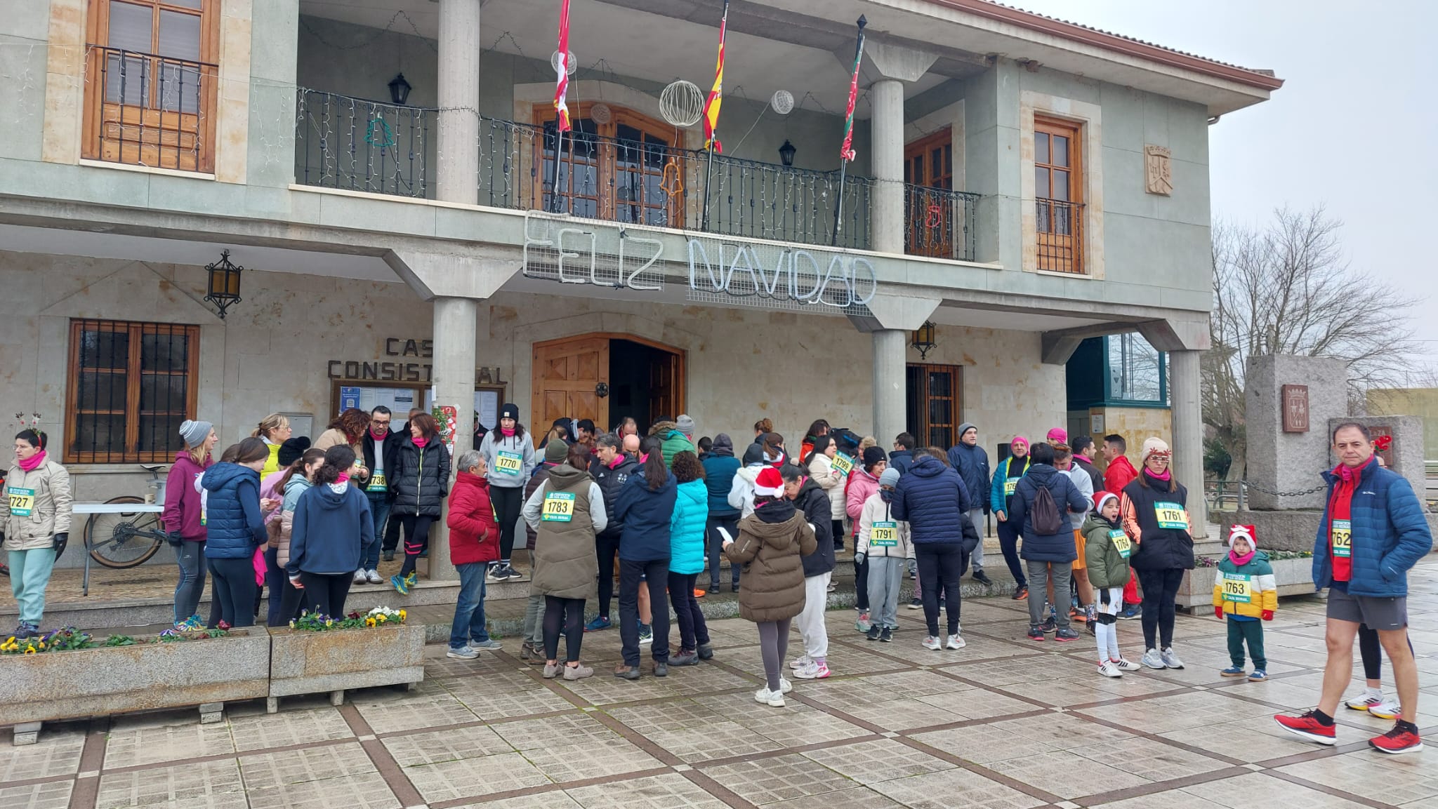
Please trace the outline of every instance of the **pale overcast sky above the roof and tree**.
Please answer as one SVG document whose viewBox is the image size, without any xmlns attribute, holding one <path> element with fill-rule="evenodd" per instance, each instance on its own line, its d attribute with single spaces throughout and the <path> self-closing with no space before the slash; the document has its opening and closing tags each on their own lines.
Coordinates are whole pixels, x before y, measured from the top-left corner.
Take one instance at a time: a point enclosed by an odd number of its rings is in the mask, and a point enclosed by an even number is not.
<svg viewBox="0 0 1438 809">
<path fill-rule="evenodd" d="M 1274 70 L 1284 86 L 1270 101 L 1209 129 L 1214 216 L 1257 223 L 1326 204 L 1355 269 L 1428 299 L 1416 336 L 1438 353 L 1438 3 L 1007 1 Z"/>
</svg>

